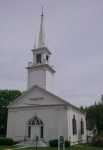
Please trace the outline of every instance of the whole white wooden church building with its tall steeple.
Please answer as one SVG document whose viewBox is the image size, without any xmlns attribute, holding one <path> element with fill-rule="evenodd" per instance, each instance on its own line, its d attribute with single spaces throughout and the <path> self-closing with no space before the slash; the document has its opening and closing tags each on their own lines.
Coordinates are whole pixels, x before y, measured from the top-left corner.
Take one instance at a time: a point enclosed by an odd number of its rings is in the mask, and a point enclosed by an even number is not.
<svg viewBox="0 0 103 150">
<path fill-rule="evenodd" d="M 8 105 L 7 137 L 33 140 L 36 135 L 48 142 L 64 136 L 72 144 L 85 142 L 85 113 L 54 94 L 55 70 L 45 46 L 43 21 L 42 11 L 38 46 L 31 50 L 33 61 L 27 67 L 27 91 Z"/>
</svg>

